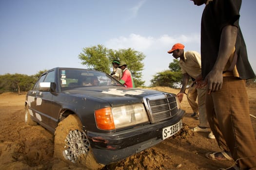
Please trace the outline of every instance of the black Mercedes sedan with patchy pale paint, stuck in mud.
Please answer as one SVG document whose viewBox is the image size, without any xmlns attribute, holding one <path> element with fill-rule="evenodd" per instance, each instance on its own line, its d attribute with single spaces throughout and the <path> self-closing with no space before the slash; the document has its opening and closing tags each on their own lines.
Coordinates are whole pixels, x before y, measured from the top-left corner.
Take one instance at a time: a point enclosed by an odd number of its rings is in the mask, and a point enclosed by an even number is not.
<svg viewBox="0 0 256 170">
<path fill-rule="evenodd" d="M 90 84 L 95 78 L 98 84 Z M 126 88 L 106 73 L 80 68 L 46 71 L 25 101 L 25 122 L 55 134 L 54 156 L 90 169 L 174 135 L 184 113 L 175 94 Z"/>
</svg>

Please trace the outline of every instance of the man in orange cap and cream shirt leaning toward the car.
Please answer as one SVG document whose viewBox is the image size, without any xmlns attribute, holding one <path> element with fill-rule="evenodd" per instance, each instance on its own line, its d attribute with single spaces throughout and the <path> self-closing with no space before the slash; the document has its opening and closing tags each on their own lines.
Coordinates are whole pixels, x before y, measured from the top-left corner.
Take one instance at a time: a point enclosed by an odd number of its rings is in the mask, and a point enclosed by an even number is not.
<svg viewBox="0 0 256 170">
<path fill-rule="evenodd" d="M 179 102 L 183 99 L 183 94 L 185 93 L 186 87 L 190 77 L 196 79 L 198 75 L 201 74 L 201 56 L 197 51 L 184 51 L 184 45 L 177 43 L 173 48 L 168 51 L 168 53 L 173 53 L 175 59 L 179 59 L 179 66 L 183 74 L 182 87 L 180 92 L 177 94 Z M 189 87 L 189 92 L 193 87 L 193 83 Z M 193 128 L 194 132 L 209 132 L 209 123 L 205 111 L 205 88 L 196 88 L 197 90 L 197 101 L 198 101 L 198 110 L 199 110 L 199 125 L 198 127 Z M 188 97 L 189 95 L 187 95 Z M 190 99 L 188 99 L 189 101 Z M 209 134 L 210 138 L 214 138 L 212 133 Z"/>
</svg>

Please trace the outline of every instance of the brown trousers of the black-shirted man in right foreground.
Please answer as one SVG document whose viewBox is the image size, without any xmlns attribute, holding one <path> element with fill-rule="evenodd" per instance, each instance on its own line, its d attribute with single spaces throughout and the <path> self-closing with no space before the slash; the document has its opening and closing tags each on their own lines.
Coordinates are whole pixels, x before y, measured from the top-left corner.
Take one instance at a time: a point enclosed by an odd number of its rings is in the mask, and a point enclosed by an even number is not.
<svg viewBox="0 0 256 170">
<path fill-rule="evenodd" d="M 256 168 L 253 131 L 245 80 L 224 77 L 222 89 L 206 94 L 207 118 L 218 145 L 230 151 L 241 169 Z"/>
</svg>

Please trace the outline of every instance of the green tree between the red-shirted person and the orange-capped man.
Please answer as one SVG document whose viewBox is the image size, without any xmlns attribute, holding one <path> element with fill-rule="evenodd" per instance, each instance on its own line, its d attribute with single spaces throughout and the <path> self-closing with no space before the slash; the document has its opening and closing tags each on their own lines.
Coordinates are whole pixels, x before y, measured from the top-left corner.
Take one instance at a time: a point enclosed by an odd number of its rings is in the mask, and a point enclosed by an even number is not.
<svg viewBox="0 0 256 170">
<path fill-rule="evenodd" d="M 150 81 L 151 86 L 168 86 L 176 88 L 177 84 L 180 85 L 182 81 L 182 73 L 179 61 L 174 59 L 173 62 L 169 64 L 169 68 L 170 70 L 164 70 L 155 74 Z"/>
</svg>

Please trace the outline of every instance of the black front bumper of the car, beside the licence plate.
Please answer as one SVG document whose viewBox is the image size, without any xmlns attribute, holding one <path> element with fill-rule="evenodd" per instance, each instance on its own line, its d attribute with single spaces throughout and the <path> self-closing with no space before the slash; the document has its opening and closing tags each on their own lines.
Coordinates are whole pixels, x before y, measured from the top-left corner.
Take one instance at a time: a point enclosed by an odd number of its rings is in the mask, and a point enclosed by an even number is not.
<svg viewBox="0 0 256 170">
<path fill-rule="evenodd" d="M 92 152 L 98 163 L 107 165 L 150 148 L 162 140 L 162 129 L 176 124 L 185 114 L 179 109 L 172 118 L 115 133 L 87 132 Z"/>
</svg>

